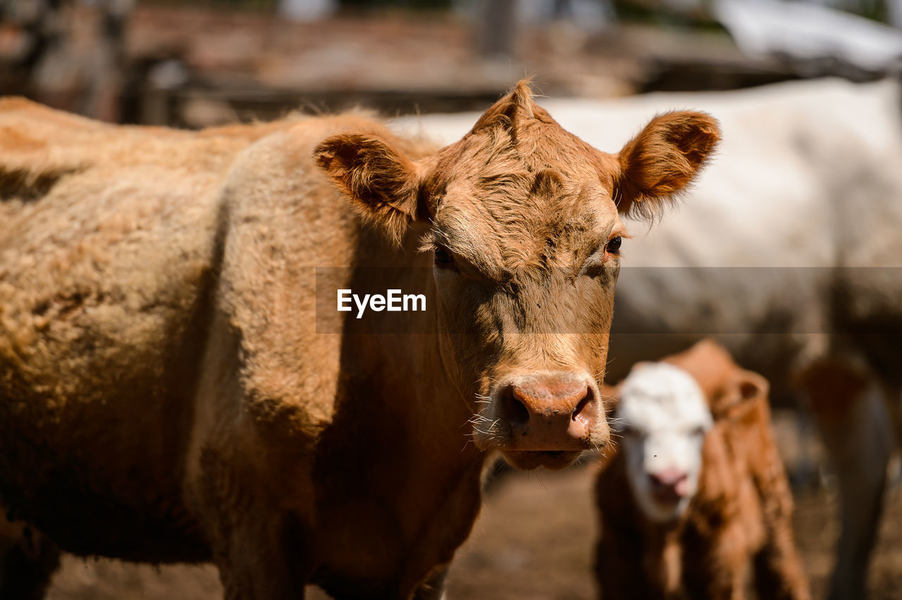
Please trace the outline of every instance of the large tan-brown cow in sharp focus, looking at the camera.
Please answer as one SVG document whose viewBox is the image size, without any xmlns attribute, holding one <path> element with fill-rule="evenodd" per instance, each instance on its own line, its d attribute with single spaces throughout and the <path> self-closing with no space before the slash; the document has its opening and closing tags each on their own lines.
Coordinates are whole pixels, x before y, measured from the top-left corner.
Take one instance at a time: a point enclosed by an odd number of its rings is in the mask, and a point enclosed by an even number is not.
<svg viewBox="0 0 902 600">
<path fill-rule="evenodd" d="M 442 150 L 362 114 L 192 133 L 8 100 L 0 131 L 2 502 L 78 554 L 212 560 L 229 598 L 440 594 L 490 451 L 603 446 L 618 213 L 718 140 L 663 114 L 606 154 L 525 83 Z M 318 332 L 317 286 L 434 308 Z"/>
</svg>

